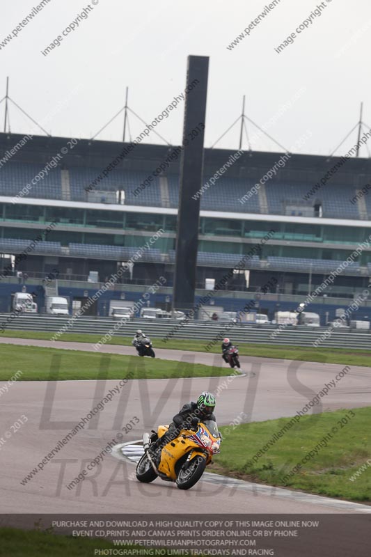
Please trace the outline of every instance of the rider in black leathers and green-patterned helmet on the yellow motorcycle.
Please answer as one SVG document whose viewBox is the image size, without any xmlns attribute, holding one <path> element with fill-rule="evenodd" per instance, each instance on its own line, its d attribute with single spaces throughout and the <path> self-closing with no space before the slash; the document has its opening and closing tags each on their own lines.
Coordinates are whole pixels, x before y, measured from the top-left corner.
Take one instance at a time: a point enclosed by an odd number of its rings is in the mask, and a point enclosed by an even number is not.
<svg viewBox="0 0 371 557">
<path fill-rule="evenodd" d="M 162 448 L 169 441 L 175 439 L 182 429 L 195 429 L 198 422 L 203 420 L 216 421 L 214 416 L 216 400 L 212 393 L 203 391 L 197 399 L 197 402 L 189 402 L 183 405 L 180 411 L 173 417 L 173 422 L 169 425 L 168 430 L 162 437 L 157 439 L 157 433 L 151 436 L 151 441 L 155 448 Z"/>
</svg>

